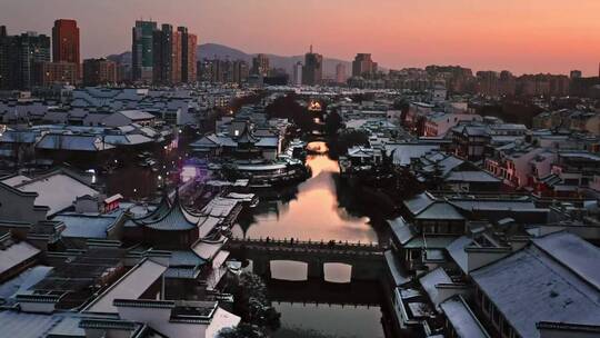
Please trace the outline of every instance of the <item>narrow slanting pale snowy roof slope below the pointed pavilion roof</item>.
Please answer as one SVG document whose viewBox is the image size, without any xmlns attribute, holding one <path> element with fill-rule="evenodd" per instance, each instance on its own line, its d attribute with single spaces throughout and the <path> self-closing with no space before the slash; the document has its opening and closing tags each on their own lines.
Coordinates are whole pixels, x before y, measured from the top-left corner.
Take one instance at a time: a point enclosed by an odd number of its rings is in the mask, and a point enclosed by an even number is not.
<svg viewBox="0 0 600 338">
<path fill-rule="evenodd" d="M 117 307 L 112 304 L 114 299 L 138 299 L 166 270 L 166 266 L 153 260 L 143 260 L 98 296 L 84 311 L 117 314 Z"/>
</svg>

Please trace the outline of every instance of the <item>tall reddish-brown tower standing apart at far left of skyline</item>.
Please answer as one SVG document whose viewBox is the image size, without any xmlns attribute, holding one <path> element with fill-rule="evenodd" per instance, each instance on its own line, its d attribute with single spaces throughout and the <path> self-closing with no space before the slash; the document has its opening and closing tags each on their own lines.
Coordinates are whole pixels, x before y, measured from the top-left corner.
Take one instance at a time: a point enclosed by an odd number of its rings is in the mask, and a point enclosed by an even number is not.
<svg viewBox="0 0 600 338">
<path fill-rule="evenodd" d="M 52 27 L 52 61 L 79 64 L 79 28 L 76 20 L 59 19 Z"/>
</svg>

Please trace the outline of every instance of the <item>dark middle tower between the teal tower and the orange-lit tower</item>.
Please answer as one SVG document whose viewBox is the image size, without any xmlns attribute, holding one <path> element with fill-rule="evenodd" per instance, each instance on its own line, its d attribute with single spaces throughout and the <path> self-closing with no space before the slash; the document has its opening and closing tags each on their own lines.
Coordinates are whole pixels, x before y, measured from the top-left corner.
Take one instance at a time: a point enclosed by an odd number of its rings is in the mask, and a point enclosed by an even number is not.
<svg viewBox="0 0 600 338">
<path fill-rule="evenodd" d="M 182 33 L 164 23 L 153 32 L 153 82 L 157 84 L 181 83 Z"/>
</svg>

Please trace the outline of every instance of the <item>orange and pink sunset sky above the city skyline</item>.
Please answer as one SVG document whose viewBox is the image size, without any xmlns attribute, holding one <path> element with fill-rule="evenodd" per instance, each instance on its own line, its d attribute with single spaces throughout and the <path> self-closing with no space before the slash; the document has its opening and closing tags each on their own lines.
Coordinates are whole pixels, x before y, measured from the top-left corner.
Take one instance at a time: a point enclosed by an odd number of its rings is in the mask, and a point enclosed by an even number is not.
<svg viewBox="0 0 600 338">
<path fill-rule="evenodd" d="M 187 26 L 200 41 L 246 52 L 316 51 L 350 60 L 371 52 L 399 69 L 598 74 L 600 0 L 0 0 L 9 33 L 50 33 L 57 18 L 81 29 L 83 57 L 129 50 L 139 18 Z"/>
</svg>

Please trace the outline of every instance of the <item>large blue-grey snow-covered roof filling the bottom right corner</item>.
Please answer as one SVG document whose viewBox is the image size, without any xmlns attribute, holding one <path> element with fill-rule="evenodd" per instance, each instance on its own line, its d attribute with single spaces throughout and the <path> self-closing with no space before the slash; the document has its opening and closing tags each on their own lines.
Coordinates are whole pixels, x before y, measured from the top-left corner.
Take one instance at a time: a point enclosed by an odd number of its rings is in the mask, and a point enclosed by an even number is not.
<svg viewBox="0 0 600 338">
<path fill-rule="evenodd" d="M 540 321 L 600 325 L 599 260 L 599 248 L 557 232 L 471 277 L 520 337 L 536 338 Z"/>
</svg>

